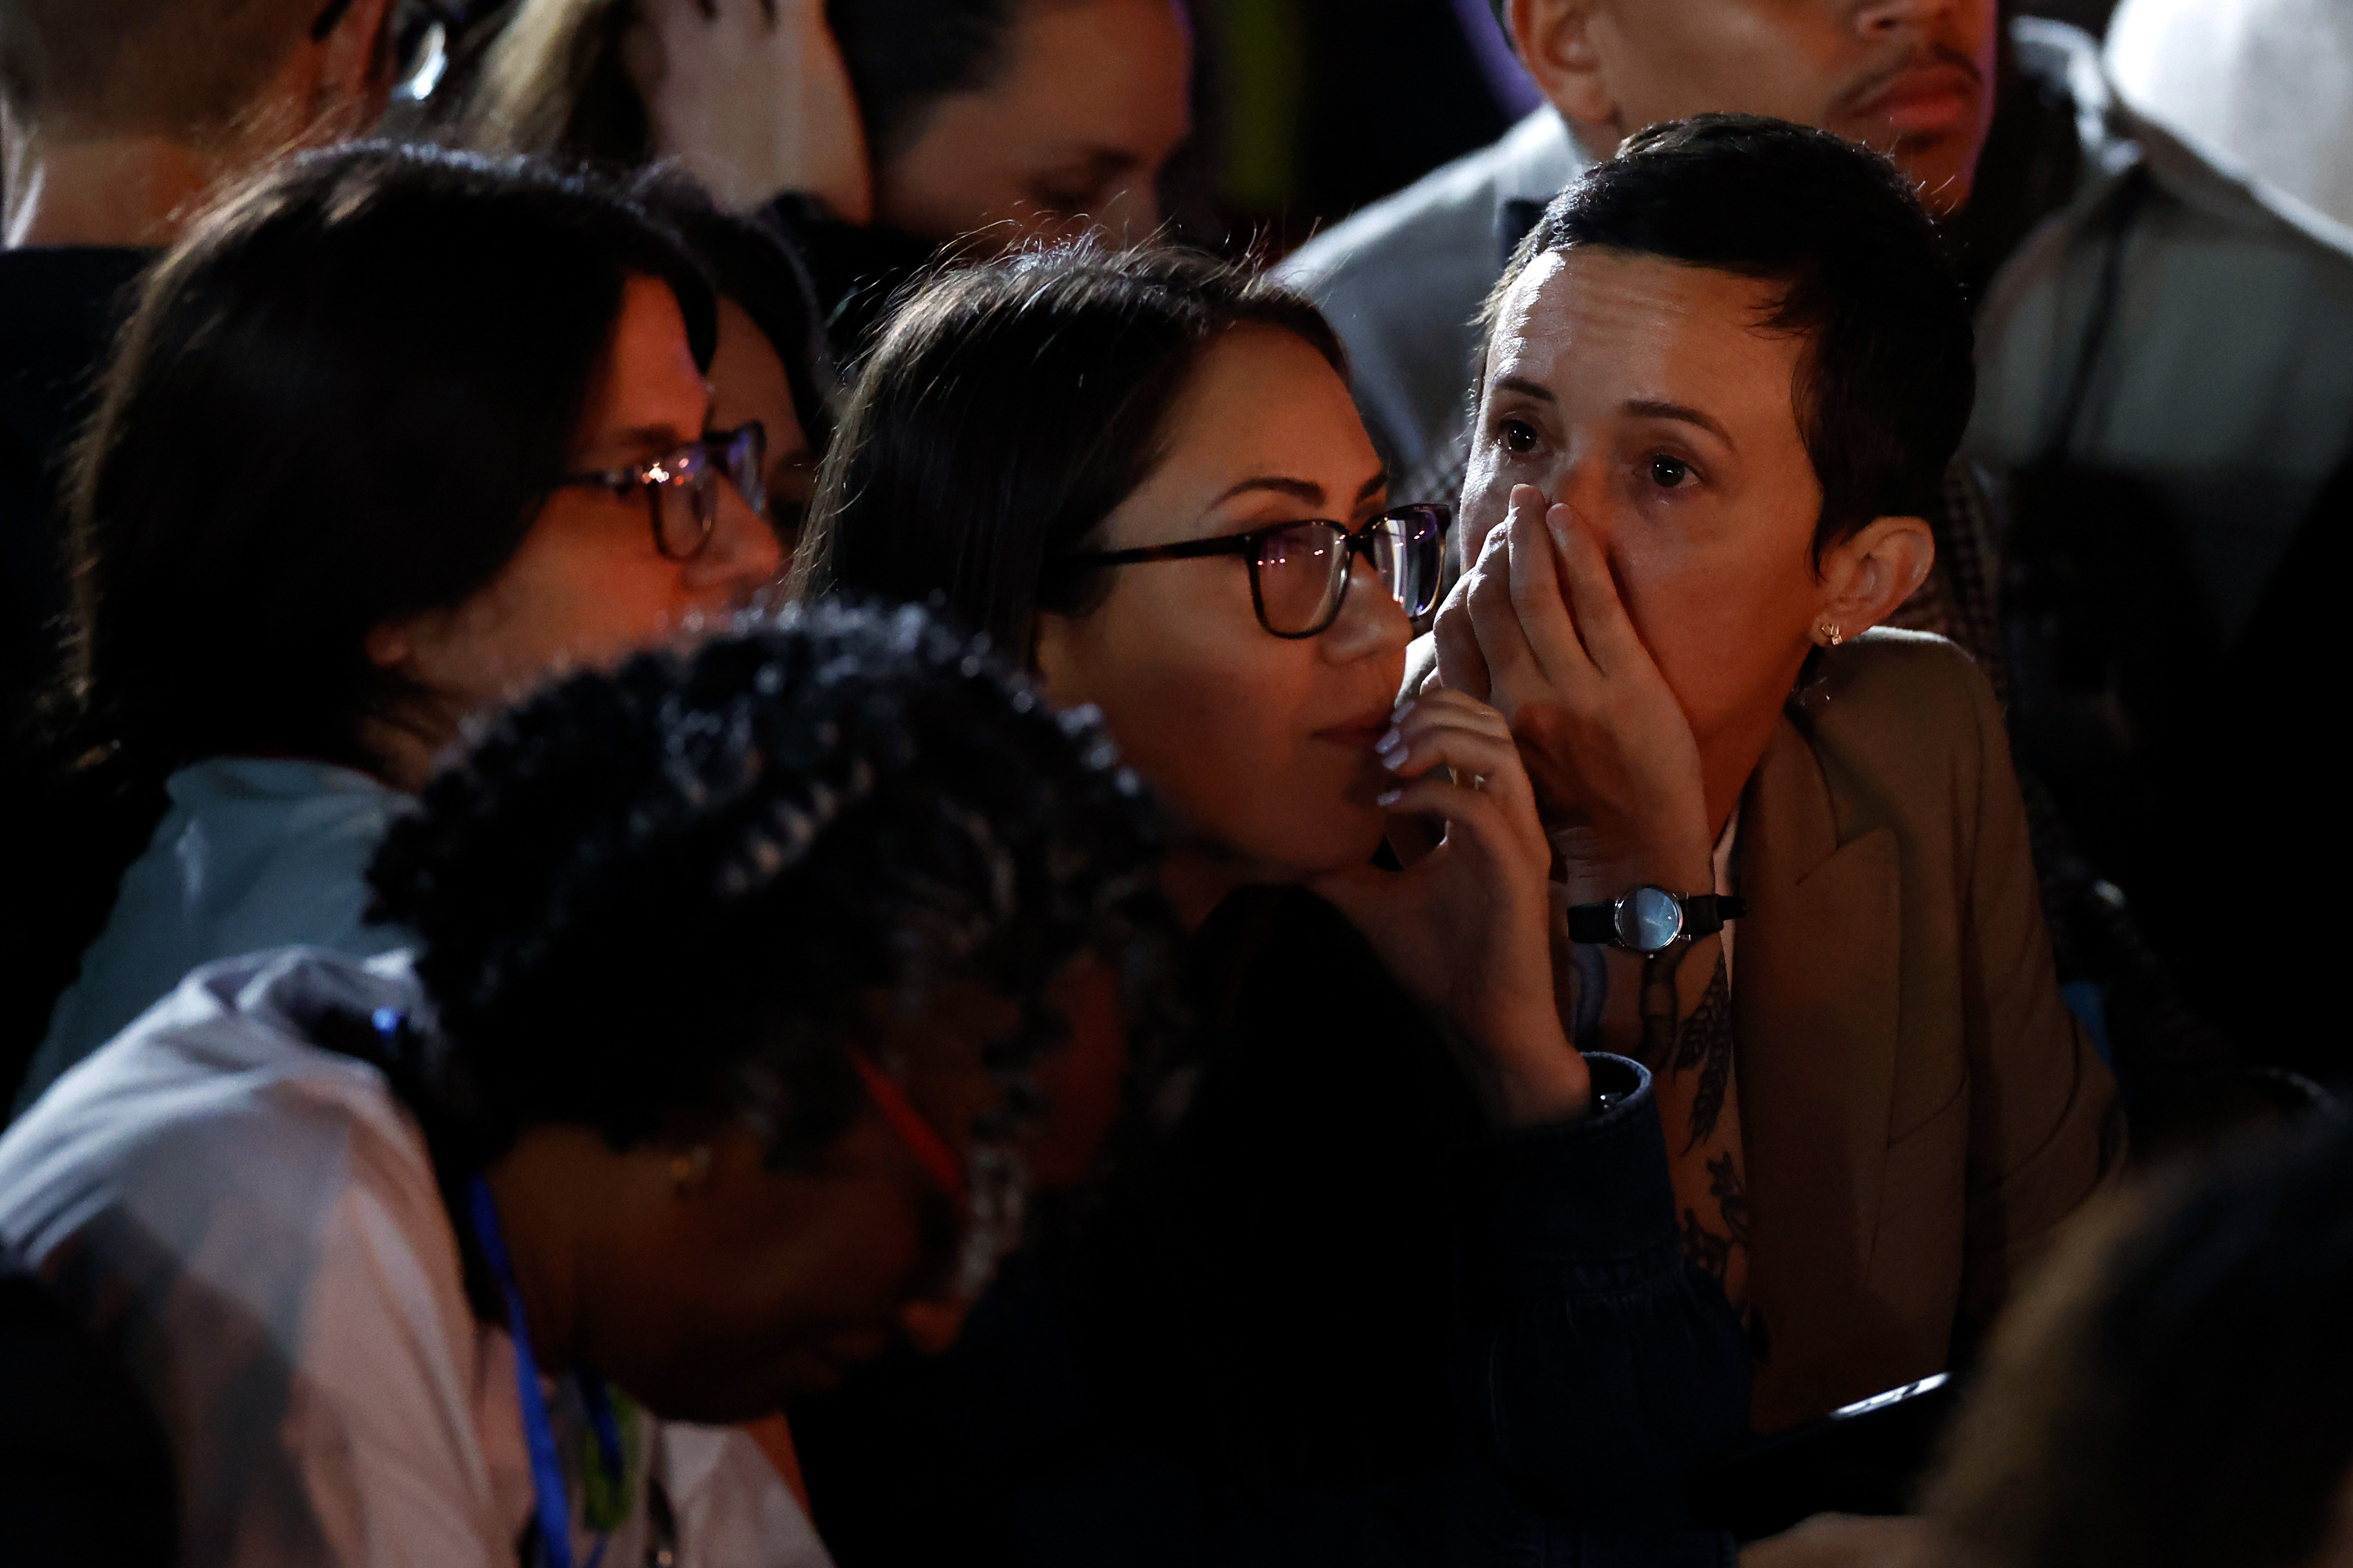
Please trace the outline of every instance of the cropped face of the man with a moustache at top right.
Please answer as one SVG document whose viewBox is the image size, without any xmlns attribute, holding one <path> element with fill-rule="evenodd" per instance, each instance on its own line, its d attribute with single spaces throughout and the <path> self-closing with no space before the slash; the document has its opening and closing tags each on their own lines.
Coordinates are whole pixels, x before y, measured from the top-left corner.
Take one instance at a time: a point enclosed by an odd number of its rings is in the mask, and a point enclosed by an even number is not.
<svg viewBox="0 0 2353 1568">
<path fill-rule="evenodd" d="M 1588 150 L 1753 113 L 1894 155 L 1929 212 L 1969 200 L 1998 0 L 1511 0 L 1522 59 Z"/>
</svg>

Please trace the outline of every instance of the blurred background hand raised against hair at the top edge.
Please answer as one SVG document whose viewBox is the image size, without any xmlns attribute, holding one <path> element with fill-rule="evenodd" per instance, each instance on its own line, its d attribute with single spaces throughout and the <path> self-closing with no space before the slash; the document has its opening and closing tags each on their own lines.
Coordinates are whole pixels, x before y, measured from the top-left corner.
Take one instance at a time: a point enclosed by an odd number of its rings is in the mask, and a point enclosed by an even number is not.
<svg viewBox="0 0 2353 1568">
<path fill-rule="evenodd" d="M 654 155 L 753 212 L 812 195 L 873 219 L 866 132 L 824 0 L 645 0 L 626 47 Z"/>
</svg>

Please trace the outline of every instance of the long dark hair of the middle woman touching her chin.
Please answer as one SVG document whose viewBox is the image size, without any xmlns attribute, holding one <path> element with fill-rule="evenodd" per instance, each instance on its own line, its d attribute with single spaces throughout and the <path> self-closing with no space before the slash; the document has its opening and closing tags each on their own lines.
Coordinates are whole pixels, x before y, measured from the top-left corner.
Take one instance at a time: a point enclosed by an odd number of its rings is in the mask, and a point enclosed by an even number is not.
<svg viewBox="0 0 2353 1568">
<path fill-rule="evenodd" d="M 953 268 L 868 355 L 816 484 L 795 590 L 939 595 L 1028 661 L 1038 611 L 1085 614 L 1101 574 L 1059 569 L 1162 456 L 1202 350 L 1280 327 L 1346 374 L 1299 294 L 1193 252 L 1089 242 Z"/>
</svg>

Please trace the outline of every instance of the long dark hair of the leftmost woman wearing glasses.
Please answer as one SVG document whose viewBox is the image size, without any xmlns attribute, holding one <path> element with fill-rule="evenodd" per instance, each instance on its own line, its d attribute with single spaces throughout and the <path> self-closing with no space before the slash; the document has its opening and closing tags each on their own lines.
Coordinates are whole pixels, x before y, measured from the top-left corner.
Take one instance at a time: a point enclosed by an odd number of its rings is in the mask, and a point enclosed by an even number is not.
<svg viewBox="0 0 2353 1568">
<path fill-rule="evenodd" d="M 374 766 L 362 724 L 414 693 L 367 632 L 461 604 L 513 557 L 633 275 L 673 289 L 708 362 L 699 266 L 624 195 L 395 146 L 289 160 L 155 263 L 66 477 L 49 778 L 12 780 L 47 790 L 12 823 L 12 886 L 45 919 L 0 997 L 0 1070 L 73 978 L 172 769 Z"/>
</svg>

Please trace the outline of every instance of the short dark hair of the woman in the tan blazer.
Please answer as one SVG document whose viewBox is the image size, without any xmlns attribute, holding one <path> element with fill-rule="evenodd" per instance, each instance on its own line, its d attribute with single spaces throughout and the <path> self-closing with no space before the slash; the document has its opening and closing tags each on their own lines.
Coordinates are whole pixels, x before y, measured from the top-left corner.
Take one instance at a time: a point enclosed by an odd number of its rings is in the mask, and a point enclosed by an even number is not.
<svg viewBox="0 0 2353 1568">
<path fill-rule="evenodd" d="M 1977 395 L 1977 339 L 1937 226 L 1889 158 L 1760 115 L 1654 125 L 1546 207 L 1487 299 L 1485 336 L 1527 268 L 1574 247 L 1779 289 L 1762 327 L 1807 343 L 1791 395 L 1821 482 L 1817 559 L 1875 517 L 1934 515 Z"/>
</svg>

